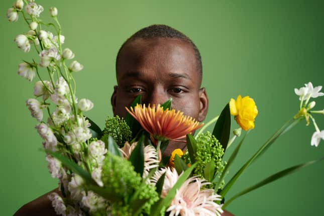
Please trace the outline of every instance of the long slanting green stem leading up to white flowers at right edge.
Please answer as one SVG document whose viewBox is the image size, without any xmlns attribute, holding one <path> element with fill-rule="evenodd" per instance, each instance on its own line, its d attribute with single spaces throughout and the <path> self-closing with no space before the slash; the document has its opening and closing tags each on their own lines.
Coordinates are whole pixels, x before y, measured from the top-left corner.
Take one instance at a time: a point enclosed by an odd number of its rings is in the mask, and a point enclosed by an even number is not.
<svg viewBox="0 0 324 216">
<path fill-rule="evenodd" d="M 263 144 L 259 150 L 241 167 L 241 169 L 231 178 L 231 180 L 226 184 L 220 195 L 225 196 L 226 193 L 230 190 L 236 180 L 240 175 L 245 171 L 245 169 L 261 154 L 263 154 L 269 146 L 274 143 L 274 141 L 287 129 L 295 125 L 295 121 L 299 120 L 290 120 L 282 128 L 280 128 L 265 144 Z"/>
</svg>

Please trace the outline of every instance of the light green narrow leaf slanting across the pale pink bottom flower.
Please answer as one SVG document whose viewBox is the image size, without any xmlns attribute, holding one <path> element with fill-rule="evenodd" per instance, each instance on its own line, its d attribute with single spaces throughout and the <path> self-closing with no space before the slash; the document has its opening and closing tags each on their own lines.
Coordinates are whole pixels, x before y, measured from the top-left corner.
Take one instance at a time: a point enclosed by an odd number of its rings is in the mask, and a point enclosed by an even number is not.
<svg viewBox="0 0 324 216">
<path fill-rule="evenodd" d="M 153 216 L 158 216 L 160 215 L 161 209 L 163 207 L 168 208 L 170 205 L 173 197 L 175 196 L 175 193 L 177 189 L 181 187 L 183 182 L 187 180 L 189 177 L 191 171 L 195 168 L 196 164 L 192 164 L 191 167 L 189 167 L 182 175 L 179 177 L 175 185 L 169 190 L 168 194 L 164 197 L 164 199 L 160 199 L 158 202 L 156 202 L 154 205 L 151 207 L 151 215 Z"/>
</svg>

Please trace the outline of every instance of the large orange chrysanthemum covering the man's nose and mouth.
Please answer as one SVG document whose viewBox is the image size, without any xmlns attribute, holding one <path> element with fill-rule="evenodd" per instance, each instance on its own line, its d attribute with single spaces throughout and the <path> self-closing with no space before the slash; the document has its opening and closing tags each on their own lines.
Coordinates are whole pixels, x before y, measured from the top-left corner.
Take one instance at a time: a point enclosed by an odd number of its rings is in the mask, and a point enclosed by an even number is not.
<svg viewBox="0 0 324 216">
<path fill-rule="evenodd" d="M 127 107 L 126 110 L 156 140 L 179 140 L 203 125 L 180 111 L 163 110 L 160 104 L 152 107 L 137 104 L 131 111 Z"/>
</svg>

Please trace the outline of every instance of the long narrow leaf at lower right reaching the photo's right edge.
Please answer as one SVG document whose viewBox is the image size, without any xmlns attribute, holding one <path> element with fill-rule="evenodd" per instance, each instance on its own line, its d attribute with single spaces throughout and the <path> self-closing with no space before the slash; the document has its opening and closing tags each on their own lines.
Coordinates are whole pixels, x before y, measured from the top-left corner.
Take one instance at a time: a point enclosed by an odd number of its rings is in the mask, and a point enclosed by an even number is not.
<svg viewBox="0 0 324 216">
<path fill-rule="evenodd" d="M 314 163 L 316 163 L 318 161 L 321 161 L 323 159 L 324 159 L 324 157 L 320 158 L 319 160 L 309 161 L 309 162 L 306 162 L 306 163 L 302 163 L 302 164 L 299 164 L 299 165 L 289 167 L 289 168 L 284 169 L 284 170 L 282 170 L 280 172 L 277 172 L 277 173 L 265 178 L 264 180 L 260 181 L 259 183 L 255 184 L 255 185 L 252 185 L 252 186 L 242 190 L 241 192 L 235 194 L 232 198 L 230 198 L 227 202 L 225 202 L 225 204 L 223 205 L 223 208 L 225 208 L 227 205 L 229 205 L 234 199 L 236 199 L 236 198 L 238 198 L 238 197 L 240 197 L 240 196 L 242 196 L 242 195 L 244 195 L 244 194 L 246 194 L 248 192 L 251 192 L 251 191 L 253 191 L 253 190 L 255 190 L 255 189 L 259 188 L 259 187 L 262 187 L 262 186 L 264 186 L 266 184 L 269 184 L 269 183 L 271 183 L 271 182 L 273 182 L 273 181 L 275 181 L 275 180 L 277 180 L 279 178 L 282 178 L 282 177 L 284 177 L 286 175 L 289 175 L 289 174 L 292 174 L 292 173 L 294 173 L 296 171 L 299 171 L 300 169 L 302 169 L 302 168 L 304 168 L 306 166 L 309 166 L 311 164 L 314 164 Z"/>
</svg>

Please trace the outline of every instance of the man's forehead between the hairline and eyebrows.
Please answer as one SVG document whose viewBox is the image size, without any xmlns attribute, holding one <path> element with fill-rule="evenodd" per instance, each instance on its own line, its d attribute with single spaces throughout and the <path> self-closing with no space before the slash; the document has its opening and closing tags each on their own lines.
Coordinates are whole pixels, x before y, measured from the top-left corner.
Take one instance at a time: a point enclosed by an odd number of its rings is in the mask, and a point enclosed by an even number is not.
<svg viewBox="0 0 324 216">
<path fill-rule="evenodd" d="M 142 70 L 163 71 L 174 78 L 199 78 L 191 45 L 175 38 L 136 39 L 121 50 L 117 76 L 142 75 Z M 121 77 L 120 77 L 121 78 Z"/>
</svg>

